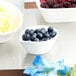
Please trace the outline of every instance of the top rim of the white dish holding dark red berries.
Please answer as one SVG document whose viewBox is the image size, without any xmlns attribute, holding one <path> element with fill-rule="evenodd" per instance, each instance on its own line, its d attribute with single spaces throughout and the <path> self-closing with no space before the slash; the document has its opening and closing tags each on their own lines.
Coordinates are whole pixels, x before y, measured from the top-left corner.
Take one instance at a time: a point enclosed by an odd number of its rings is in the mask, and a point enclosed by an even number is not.
<svg viewBox="0 0 76 76">
<path fill-rule="evenodd" d="M 74 10 L 76 8 L 42 8 L 40 6 L 40 0 L 36 0 L 36 5 L 39 9 L 42 9 L 42 10 Z"/>
</svg>

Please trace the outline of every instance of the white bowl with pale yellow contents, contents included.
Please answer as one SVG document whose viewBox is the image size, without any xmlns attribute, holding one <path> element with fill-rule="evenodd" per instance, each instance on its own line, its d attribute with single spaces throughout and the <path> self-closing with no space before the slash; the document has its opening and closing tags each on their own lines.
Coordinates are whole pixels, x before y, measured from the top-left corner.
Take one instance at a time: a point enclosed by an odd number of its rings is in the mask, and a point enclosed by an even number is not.
<svg viewBox="0 0 76 76">
<path fill-rule="evenodd" d="M 0 1 L 0 43 L 7 42 L 23 23 L 20 10 L 7 1 Z"/>
</svg>

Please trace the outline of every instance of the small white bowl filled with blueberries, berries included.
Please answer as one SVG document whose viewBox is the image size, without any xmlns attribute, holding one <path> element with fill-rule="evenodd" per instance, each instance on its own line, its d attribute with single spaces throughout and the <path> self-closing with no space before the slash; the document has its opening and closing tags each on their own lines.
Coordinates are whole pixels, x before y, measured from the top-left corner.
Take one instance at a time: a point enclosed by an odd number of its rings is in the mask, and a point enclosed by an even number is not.
<svg viewBox="0 0 76 76">
<path fill-rule="evenodd" d="M 57 29 L 50 26 L 29 26 L 20 35 L 20 42 L 29 54 L 45 54 L 52 50 L 57 39 Z"/>
</svg>

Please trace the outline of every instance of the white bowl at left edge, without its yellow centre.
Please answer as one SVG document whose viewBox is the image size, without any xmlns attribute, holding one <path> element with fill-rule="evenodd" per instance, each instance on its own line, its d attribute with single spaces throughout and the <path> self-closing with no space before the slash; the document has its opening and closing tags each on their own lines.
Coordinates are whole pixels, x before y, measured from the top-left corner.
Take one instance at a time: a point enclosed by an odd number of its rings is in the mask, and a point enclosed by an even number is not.
<svg viewBox="0 0 76 76">
<path fill-rule="evenodd" d="M 7 1 L 0 1 L 0 7 L 3 7 L 8 11 L 8 14 L 12 17 L 11 22 L 13 22 L 13 25 L 16 26 L 16 29 L 13 31 L 0 33 L 0 43 L 4 43 L 7 42 L 12 37 L 12 35 L 21 28 L 23 23 L 23 15 L 15 5 Z"/>
</svg>

